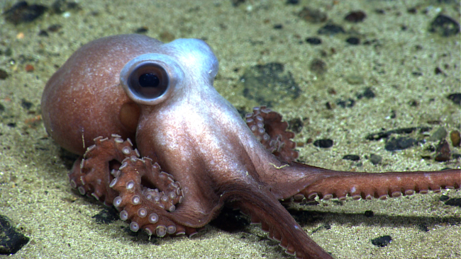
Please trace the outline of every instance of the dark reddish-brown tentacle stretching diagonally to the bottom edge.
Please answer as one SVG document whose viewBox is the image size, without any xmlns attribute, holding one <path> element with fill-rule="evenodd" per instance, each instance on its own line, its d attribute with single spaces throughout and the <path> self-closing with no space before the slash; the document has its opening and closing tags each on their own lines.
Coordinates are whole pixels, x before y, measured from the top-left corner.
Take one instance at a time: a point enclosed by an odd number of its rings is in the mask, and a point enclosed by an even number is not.
<svg viewBox="0 0 461 259">
<path fill-rule="evenodd" d="M 267 237 L 279 241 L 279 246 L 289 255 L 301 259 L 333 259 L 309 238 L 287 209 L 268 190 L 245 190 L 235 197 L 232 192 L 226 192 L 222 198 L 234 200 L 234 205 L 251 217 L 251 223 L 261 224 L 261 229 L 268 232 Z"/>
</svg>

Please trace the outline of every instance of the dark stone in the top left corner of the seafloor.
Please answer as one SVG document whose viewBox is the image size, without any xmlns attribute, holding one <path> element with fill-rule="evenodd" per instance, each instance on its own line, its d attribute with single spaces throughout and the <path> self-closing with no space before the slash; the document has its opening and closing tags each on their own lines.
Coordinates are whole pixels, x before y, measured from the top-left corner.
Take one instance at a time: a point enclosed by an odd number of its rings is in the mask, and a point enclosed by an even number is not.
<svg viewBox="0 0 461 259">
<path fill-rule="evenodd" d="M 18 25 L 19 23 L 30 23 L 40 17 L 48 9 L 40 4 L 29 4 L 26 1 L 19 1 L 4 12 L 5 20 Z"/>
</svg>

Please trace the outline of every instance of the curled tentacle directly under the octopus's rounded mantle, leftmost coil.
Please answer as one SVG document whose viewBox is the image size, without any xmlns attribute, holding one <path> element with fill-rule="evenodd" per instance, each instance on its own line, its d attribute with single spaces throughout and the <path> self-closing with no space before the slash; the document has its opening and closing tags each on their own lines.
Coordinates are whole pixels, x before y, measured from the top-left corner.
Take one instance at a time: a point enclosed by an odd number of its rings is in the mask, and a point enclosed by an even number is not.
<svg viewBox="0 0 461 259">
<path fill-rule="evenodd" d="M 121 163 L 126 156 L 139 155 L 131 146 L 133 144 L 130 139 L 123 141 L 116 134 L 112 134 L 111 139 L 96 137 L 94 145 L 88 147 L 83 158 L 75 161 L 68 174 L 71 187 L 79 190 L 82 195 L 91 195 L 104 202 L 104 205 L 111 206 L 113 198 L 118 194 L 109 188 L 109 183 L 114 178 L 110 173 L 109 162 Z"/>
</svg>

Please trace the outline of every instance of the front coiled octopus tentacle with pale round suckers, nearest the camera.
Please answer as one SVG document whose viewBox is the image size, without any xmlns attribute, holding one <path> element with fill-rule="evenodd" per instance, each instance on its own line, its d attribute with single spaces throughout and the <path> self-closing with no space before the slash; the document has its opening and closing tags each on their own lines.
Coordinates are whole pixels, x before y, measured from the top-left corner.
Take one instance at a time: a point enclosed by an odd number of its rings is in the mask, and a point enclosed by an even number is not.
<svg viewBox="0 0 461 259">
<path fill-rule="evenodd" d="M 131 231 L 145 229 L 159 237 L 195 233 L 177 224 L 169 214 L 182 202 L 184 193 L 172 175 L 162 172 L 152 159 L 124 159 L 110 187 L 118 192 L 113 205 L 121 209 L 122 220 L 130 221 Z"/>
</svg>

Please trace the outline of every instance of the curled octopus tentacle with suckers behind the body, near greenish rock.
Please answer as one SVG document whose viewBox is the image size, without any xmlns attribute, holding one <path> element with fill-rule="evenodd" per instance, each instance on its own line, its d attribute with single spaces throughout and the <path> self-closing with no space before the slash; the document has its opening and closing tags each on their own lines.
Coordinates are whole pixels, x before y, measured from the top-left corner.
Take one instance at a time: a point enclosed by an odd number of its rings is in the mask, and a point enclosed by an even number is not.
<svg viewBox="0 0 461 259">
<path fill-rule="evenodd" d="M 298 158 L 296 143 L 290 140 L 294 133 L 287 131 L 288 123 L 282 121 L 282 115 L 266 106 L 255 107 L 245 115 L 245 122 L 261 144 L 279 159 L 291 162 Z"/>
</svg>

